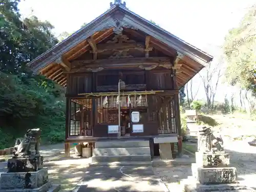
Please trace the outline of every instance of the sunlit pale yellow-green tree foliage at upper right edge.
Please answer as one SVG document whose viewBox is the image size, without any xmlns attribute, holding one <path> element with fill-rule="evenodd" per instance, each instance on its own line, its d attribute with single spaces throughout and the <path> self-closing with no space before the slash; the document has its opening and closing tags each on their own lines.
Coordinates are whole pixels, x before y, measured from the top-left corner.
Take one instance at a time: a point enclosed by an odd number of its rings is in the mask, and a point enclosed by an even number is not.
<svg viewBox="0 0 256 192">
<path fill-rule="evenodd" d="M 231 85 L 251 90 L 256 95 L 256 6 L 244 16 L 238 28 L 225 38 L 224 53 L 228 63 L 226 78 Z"/>
</svg>

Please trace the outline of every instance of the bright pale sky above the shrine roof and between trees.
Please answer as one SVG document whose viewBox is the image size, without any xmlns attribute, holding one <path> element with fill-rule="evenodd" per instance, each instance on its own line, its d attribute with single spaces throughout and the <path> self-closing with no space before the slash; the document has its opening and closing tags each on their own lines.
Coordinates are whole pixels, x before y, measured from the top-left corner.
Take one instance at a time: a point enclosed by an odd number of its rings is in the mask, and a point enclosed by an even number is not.
<svg viewBox="0 0 256 192">
<path fill-rule="evenodd" d="M 55 26 L 56 36 L 74 32 L 110 7 L 109 0 L 22 0 L 20 12 L 26 17 L 36 15 Z M 114 0 L 112 1 L 114 2 Z M 221 46 L 230 28 L 238 26 L 255 0 L 126 0 L 126 7 L 140 16 L 154 20 L 159 26 L 190 44 L 208 51 Z M 211 54 L 211 51 L 209 51 Z M 213 53 L 214 54 L 214 53 Z M 199 79 L 196 81 L 200 81 Z M 219 89 L 225 89 L 220 86 Z M 226 90 L 226 89 L 225 89 Z M 224 91 L 225 92 L 225 91 Z M 224 99 L 224 93 L 217 100 Z M 204 97 L 203 90 L 199 97 Z"/>
</svg>

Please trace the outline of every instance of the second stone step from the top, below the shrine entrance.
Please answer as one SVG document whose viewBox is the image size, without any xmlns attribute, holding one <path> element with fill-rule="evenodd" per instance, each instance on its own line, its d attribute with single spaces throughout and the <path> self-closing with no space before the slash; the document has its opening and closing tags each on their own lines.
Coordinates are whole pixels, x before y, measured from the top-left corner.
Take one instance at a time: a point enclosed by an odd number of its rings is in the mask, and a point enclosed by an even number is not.
<svg viewBox="0 0 256 192">
<path fill-rule="evenodd" d="M 93 156 L 150 155 L 150 147 L 94 148 Z"/>
</svg>

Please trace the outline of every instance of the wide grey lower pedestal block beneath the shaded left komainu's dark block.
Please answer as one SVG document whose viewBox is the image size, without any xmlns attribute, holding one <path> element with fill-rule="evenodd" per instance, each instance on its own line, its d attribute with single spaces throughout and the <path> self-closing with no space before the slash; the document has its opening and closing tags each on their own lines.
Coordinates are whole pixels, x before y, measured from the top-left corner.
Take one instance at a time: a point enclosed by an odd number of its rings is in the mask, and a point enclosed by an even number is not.
<svg viewBox="0 0 256 192">
<path fill-rule="evenodd" d="M 41 168 L 37 172 L 1 173 L 0 190 L 33 189 L 48 182 L 48 169 Z"/>
</svg>

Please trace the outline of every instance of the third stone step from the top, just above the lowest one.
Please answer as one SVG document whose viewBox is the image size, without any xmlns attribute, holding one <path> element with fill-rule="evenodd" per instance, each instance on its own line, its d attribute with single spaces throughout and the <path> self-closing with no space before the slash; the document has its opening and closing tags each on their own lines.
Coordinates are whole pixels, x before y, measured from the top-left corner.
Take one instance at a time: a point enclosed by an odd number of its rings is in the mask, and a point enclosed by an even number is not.
<svg viewBox="0 0 256 192">
<path fill-rule="evenodd" d="M 150 155 L 107 155 L 107 156 L 92 156 L 92 163 L 95 162 L 144 162 L 151 161 Z"/>
</svg>

